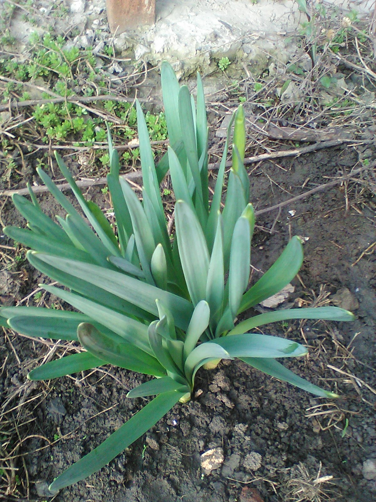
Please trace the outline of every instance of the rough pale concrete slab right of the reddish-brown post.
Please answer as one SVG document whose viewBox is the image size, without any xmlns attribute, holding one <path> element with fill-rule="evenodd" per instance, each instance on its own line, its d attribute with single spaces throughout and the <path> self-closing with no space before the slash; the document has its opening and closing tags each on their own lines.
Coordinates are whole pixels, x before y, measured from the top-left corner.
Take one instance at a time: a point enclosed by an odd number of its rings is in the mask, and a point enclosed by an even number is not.
<svg viewBox="0 0 376 502">
<path fill-rule="evenodd" d="M 98 1 L 98 0 L 97 0 Z M 338 15 L 356 10 L 371 17 L 374 0 L 329 0 Z M 286 63 L 297 51 L 299 25 L 306 21 L 292 0 L 156 0 L 156 22 L 128 32 L 136 60 L 159 65 L 169 61 L 178 76 L 218 70 L 228 57 L 235 67 L 260 74 L 270 64 Z M 118 45 L 121 39 L 116 40 Z"/>
</svg>

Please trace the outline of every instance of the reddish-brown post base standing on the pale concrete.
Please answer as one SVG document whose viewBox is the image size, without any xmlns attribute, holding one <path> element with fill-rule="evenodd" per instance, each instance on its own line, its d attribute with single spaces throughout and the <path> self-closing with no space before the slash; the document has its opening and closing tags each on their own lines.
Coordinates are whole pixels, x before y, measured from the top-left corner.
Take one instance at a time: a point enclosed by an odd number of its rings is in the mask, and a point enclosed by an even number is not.
<svg viewBox="0 0 376 502">
<path fill-rule="evenodd" d="M 155 23 L 155 0 L 106 0 L 111 33 Z"/>
</svg>

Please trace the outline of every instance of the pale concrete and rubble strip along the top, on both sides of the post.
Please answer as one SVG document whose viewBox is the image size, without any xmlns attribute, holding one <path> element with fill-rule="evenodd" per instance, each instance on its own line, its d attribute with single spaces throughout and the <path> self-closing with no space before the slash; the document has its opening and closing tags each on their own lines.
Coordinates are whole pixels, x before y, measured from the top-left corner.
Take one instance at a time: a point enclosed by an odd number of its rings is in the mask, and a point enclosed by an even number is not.
<svg viewBox="0 0 376 502">
<path fill-rule="evenodd" d="M 115 6 L 128 0 L 111 2 Z M 374 0 L 321 0 L 320 4 L 337 6 L 339 17 L 352 9 L 369 22 L 373 16 Z M 299 26 L 307 21 L 293 0 L 156 0 L 155 24 L 111 35 L 106 0 L 67 0 L 68 12 L 58 18 L 49 16 L 54 2 L 35 0 L 34 5 L 35 12 L 40 12 L 39 28 L 21 16 L 12 21 L 12 35 L 20 42 L 25 44 L 25 37 L 36 29 L 43 33 L 42 26 L 51 22 L 60 33 L 75 26 L 81 34 L 71 45 L 113 43 L 122 57 L 134 56 L 155 66 L 169 61 L 178 77 L 197 71 L 202 76 L 218 72 L 219 60 L 226 57 L 231 62 L 226 70 L 230 78 L 239 78 L 245 72 L 262 74 L 271 63 L 277 67 L 293 60 L 300 42 L 296 37 Z M 116 23 L 116 12 L 111 16 L 111 23 Z"/>
</svg>

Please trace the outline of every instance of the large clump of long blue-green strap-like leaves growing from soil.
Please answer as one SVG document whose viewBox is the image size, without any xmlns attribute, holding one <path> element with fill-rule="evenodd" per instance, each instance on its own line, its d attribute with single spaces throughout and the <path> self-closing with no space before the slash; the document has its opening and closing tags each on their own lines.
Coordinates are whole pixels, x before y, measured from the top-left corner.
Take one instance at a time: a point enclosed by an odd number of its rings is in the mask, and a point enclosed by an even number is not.
<svg viewBox="0 0 376 502">
<path fill-rule="evenodd" d="M 41 307 L 2 307 L 2 324 L 34 337 L 78 340 L 85 349 L 31 371 L 31 380 L 96 368 L 110 363 L 155 377 L 128 397 L 156 396 L 101 445 L 70 466 L 50 490 L 75 483 L 110 462 L 152 427 L 178 401 L 190 400 L 195 375 L 221 359 L 239 358 L 251 366 L 316 396 L 336 394 L 300 378 L 284 367 L 282 357 L 307 353 L 296 341 L 254 333 L 264 324 L 287 319 L 348 321 L 336 307 L 277 310 L 237 323 L 237 316 L 279 292 L 297 274 L 303 260 L 299 237 L 293 237 L 278 260 L 250 289 L 254 211 L 243 165 L 246 133 L 240 106 L 228 128 L 214 195 L 209 201 L 208 126 L 203 85 L 197 101 L 179 87 L 172 68 L 162 64 L 162 93 L 170 147 L 157 166 L 139 103 L 138 137 L 143 179 L 142 203 L 119 177 L 119 157 L 109 135 L 108 187 L 116 235 L 102 211 L 84 199 L 56 154 L 86 219 L 41 169 L 39 176 L 67 212 L 53 221 L 30 189 L 31 201 L 13 201 L 28 228 L 5 233 L 30 247 L 29 262 L 64 288 L 41 287 L 76 311 Z M 232 127 L 232 168 L 221 212 L 225 165 Z M 160 182 L 169 169 L 176 203 L 176 235 L 171 240 L 163 211 Z M 258 330 L 260 331 L 260 330 Z"/>
</svg>

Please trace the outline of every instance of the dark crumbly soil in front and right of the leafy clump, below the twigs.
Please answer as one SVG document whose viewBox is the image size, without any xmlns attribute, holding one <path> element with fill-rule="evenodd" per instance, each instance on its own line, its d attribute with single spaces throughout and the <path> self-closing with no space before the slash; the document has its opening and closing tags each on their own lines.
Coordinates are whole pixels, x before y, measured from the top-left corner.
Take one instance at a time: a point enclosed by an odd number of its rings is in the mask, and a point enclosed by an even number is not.
<svg viewBox="0 0 376 502">
<path fill-rule="evenodd" d="M 358 149 L 361 153 L 365 147 Z M 251 200 L 256 210 L 349 172 L 359 151 L 343 146 L 251 166 Z M 374 150 L 369 154 L 372 160 Z M 365 176 L 363 181 L 366 183 Z M 99 189 L 90 192 L 94 193 L 97 201 L 102 198 L 102 207 L 109 206 Z M 49 212 L 50 198 L 41 196 L 40 200 Z M 375 481 L 363 478 L 362 464 L 376 458 L 375 393 L 367 387 L 376 389 L 375 255 L 364 255 L 354 262 L 376 241 L 375 202 L 364 183 L 337 185 L 284 207 L 278 215 L 277 211 L 263 214 L 257 221 L 260 227 L 253 240 L 252 265 L 266 271 L 290 236 L 309 237 L 300 280 L 294 279 L 295 292 L 287 300 L 291 305 L 325 302 L 331 298 L 325 299 L 325 292 L 335 294 L 344 288 L 351 293 L 347 292 L 347 296 L 356 315 L 354 322 L 296 321 L 263 329 L 264 333 L 281 336 L 288 333 L 289 338 L 307 343 L 309 357 L 286 364 L 311 382 L 337 391 L 339 399 L 325 402 L 240 361 L 222 362 L 216 370 L 201 370 L 194 401 L 176 405 L 108 466 L 62 490 L 54 500 L 373 500 Z M 292 215 L 289 211 L 296 212 Z M 6 224 L 20 223 L 8 202 L 2 218 Z M 5 238 L 1 243 L 13 245 Z M 255 270 L 254 278 L 257 275 Z M 36 288 L 38 279 L 25 262 L 3 270 L 3 301 L 20 300 Z M 3 333 L 1 339 L 1 360 L 6 356 L 8 359 L 0 375 L 0 393 L 3 402 L 10 400 L 0 435 L 7 440 L 16 423 L 19 437 L 18 441 L 16 435 L 11 445 L 4 443 L 2 456 L 10 455 L 20 443 L 12 454 L 12 465 L 19 469 L 19 493 L 39 501 L 46 499 L 43 482 L 51 482 L 146 403 L 125 397 L 142 378 L 110 366 L 104 368 L 105 372 L 95 371 L 86 378 L 80 374 L 50 383 L 27 382 L 28 370 L 42 362 L 47 350 L 46 345 L 10 331 L 6 337 Z M 59 353 L 63 350 L 57 348 Z M 347 375 L 328 368 L 328 364 Z M 33 397 L 37 397 L 35 401 Z M 19 403 L 22 407 L 16 408 Z M 107 411 L 102 413 L 104 410 Z M 315 412 L 320 415 L 311 416 Z M 223 448 L 224 463 L 206 475 L 200 456 L 216 447 Z M 252 462 L 252 458 L 260 458 L 255 452 L 261 455 L 261 466 Z M 294 498 L 296 483 L 306 489 L 303 482 L 307 479 L 299 466 L 305 469 L 310 484 L 316 486 L 316 498 L 309 498 L 312 494 L 304 491 L 300 498 Z M 259 468 L 255 470 L 256 467 Z M 332 484 L 314 485 L 312 481 L 321 476 L 333 476 Z M 37 493 L 38 481 L 42 482 L 38 484 L 42 496 Z"/>
</svg>

